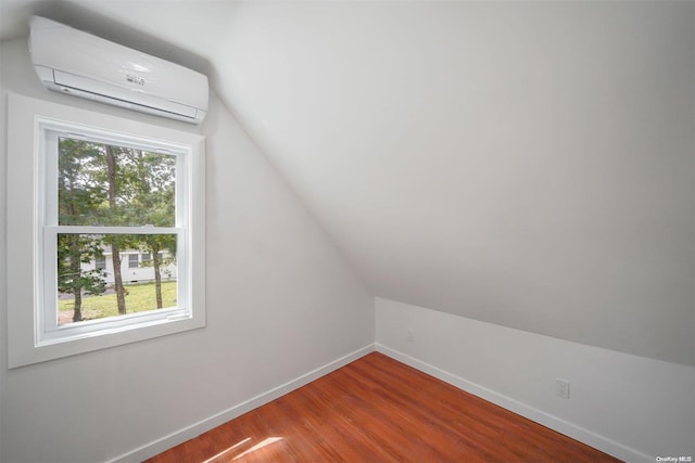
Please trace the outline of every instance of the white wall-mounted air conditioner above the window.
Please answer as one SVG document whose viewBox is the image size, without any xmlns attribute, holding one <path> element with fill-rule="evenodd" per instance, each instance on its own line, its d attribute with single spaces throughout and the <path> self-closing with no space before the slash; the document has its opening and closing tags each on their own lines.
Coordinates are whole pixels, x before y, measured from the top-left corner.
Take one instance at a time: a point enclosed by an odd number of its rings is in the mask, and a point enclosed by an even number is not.
<svg viewBox="0 0 695 463">
<path fill-rule="evenodd" d="M 192 124 L 207 112 L 207 77 L 64 26 L 31 18 L 31 62 L 50 90 Z"/>
</svg>

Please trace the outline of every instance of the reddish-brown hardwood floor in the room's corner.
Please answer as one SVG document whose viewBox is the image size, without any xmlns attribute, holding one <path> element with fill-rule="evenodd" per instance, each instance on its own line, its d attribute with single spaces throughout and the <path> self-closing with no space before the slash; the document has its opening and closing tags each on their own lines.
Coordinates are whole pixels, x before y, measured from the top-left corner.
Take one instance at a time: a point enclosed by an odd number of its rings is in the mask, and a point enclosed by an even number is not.
<svg viewBox="0 0 695 463">
<path fill-rule="evenodd" d="M 378 352 L 148 460 L 618 462 Z"/>
</svg>

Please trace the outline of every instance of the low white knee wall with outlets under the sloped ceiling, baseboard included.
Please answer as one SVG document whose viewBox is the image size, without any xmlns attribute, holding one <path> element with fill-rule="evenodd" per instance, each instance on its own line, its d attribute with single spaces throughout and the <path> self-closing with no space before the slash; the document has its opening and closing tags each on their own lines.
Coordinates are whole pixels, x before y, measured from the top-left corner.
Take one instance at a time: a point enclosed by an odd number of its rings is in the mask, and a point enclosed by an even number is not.
<svg viewBox="0 0 695 463">
<path fill-rule="evenodd" d="M 389 299 L 376 312 L 377 349 L 405 363 L 629 462 L 695 458 L 693 366 Z"/>
</svg>

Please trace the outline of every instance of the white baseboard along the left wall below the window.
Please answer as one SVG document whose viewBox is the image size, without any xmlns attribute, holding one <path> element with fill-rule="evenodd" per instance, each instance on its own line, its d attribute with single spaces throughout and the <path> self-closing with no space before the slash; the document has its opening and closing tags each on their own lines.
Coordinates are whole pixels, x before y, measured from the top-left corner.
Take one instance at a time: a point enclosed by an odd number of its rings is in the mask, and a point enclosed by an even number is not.
<svg viewBox="0 0 695 463">
<path fill-rule="evenodd" d="M 361 357 L 366 356 L 369 352 L 372 352 L 374 350 L 375 350 L 374 344 L 365 346 L 362 349 L 357 349 L 354 352 L 351 352 L 344 357 L 341 357 L 340 359 L 334 360 L 314 371 L 311 371 L 295 380 L 292 380 L 268 391 L 260 394 L 258 396 L 253 397 L 252 399 L 249 399 L 244 402 L 236 404 L 205 420 L 202 420 L 198 423 L 194 423 L 190 426 L 187 426 L 182 429 L 172 433 L 168 436 L 162 437 L 161 439 L 147 443 L 128 453 L 125 453 L 121 456 L 110 460 L 110 463 L 116 463 L 116 462 L 117 463 L 138 463 L 149 458 L 152 458 L 159 453 L 162 453 L 165 450 L 170 449 L 172 447 L 176 447 L 179 443 L 190 440 L 197 436 L 200 436 L 201 434 L 206 433 L 214 427 L 217 427 L 224 423 L 227 423 L 230 420 L 241 416 L 242 414 L 250 412 L 253 409 L 256 409 L 279 397 L 282 397 L 286 394 L 289 394 L 292 390 L 298 389 L 311 383 L 312 381 L 318 380 L 319 377 L 325 376 L 328 373 L 336 371 L 339 368 L 342 368 L 348 363 L 355 361 Z"/>
</svg>

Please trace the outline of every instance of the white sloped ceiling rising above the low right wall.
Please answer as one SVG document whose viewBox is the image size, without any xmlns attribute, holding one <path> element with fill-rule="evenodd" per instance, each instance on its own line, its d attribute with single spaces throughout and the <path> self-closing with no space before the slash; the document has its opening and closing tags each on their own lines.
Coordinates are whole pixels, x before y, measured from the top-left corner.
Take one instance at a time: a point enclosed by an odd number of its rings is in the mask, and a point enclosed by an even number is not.
<svg viewBox="0 0 695 463">
<path fill-rule="evenodd" d="M 695 363 L 695 3 L 41 9 L 207 72 L 376 295 Z"/>
</svg>

